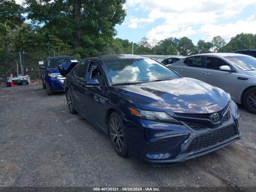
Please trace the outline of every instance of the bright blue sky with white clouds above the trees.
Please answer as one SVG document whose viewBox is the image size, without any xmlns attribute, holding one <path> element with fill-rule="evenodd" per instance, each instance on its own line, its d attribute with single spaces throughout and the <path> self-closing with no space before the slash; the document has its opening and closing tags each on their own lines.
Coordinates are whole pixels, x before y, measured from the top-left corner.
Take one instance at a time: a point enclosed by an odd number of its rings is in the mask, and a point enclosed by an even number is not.
<svg viewBox="0 0 256 192">
<path fill-rule="evenodd" d="M 21 3 L 22 0 L 16 0 Z M 256 34 L 256 0 L 127 0 L 116 38 L 156 42 L 168 37 L 226 42 L 239 33 Z"/>
</svg>

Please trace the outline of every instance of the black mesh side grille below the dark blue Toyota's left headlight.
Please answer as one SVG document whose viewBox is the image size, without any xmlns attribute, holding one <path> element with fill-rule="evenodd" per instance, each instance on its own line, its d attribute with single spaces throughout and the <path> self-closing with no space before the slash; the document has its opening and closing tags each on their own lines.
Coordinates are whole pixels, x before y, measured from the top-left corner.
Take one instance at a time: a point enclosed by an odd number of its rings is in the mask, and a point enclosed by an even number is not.
<svg viewBox="0 0 256 192">
<path fill-rule="evenodd" d="M 172 150 L 181 140 L 184 135 L 164 138 L 152 142 L 148 148 L 148 154 L 165 153 Z"/>
</svg>

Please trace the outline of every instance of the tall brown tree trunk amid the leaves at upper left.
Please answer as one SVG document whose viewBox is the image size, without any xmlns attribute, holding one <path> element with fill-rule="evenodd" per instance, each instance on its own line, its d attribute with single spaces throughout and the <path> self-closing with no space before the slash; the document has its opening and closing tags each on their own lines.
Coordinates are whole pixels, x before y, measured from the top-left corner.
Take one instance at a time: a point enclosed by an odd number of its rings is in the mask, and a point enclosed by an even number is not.
<svg viewBox="0 0 256 192">
<path fill-rule="evenodd" d="M 75 0 L 74 18 L 76 21 L 76 26 L 75 26 L 75 42 L 73 45 L 74 49 L 79 46 L 80 39 L 81 39 L 81 9 L 82 9 L 81 0 Z"/>
</svg>

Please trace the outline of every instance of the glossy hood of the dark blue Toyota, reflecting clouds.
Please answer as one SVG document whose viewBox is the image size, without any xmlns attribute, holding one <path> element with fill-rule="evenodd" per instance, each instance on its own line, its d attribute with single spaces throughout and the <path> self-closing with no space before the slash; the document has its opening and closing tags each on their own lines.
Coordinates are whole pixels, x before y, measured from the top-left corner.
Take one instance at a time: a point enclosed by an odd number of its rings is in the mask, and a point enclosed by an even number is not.
<svg viewBox="0 0 256 192">
<path fill-rule="evenodd" d="M 212 113 L 222 110 L 229 96 L 222 89 L 192 78 L 115 86 L 135 107 L 181 113 Z"/>
</svg>

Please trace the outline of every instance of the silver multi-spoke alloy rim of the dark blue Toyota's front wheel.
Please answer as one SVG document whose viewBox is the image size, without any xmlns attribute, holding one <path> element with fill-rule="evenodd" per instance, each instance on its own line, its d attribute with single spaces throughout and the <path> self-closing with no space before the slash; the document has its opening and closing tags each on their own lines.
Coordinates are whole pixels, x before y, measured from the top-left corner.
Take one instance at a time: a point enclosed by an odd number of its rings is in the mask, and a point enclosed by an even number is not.
<svg viewBox="0 0 256 192">
<path fill-rule="evenodd" d="M 121 152 L 124 148 L 124 136 L 120 122 L 117 118 L 110 119 L 110 138 L 116 151 Z"/>
</svg>

